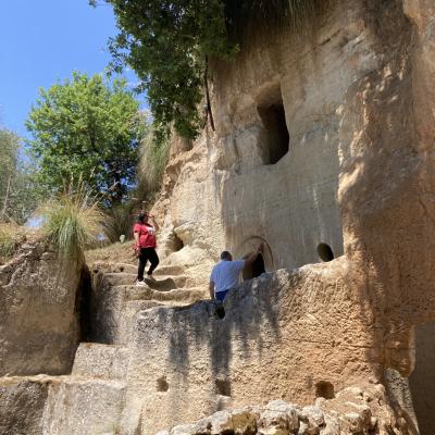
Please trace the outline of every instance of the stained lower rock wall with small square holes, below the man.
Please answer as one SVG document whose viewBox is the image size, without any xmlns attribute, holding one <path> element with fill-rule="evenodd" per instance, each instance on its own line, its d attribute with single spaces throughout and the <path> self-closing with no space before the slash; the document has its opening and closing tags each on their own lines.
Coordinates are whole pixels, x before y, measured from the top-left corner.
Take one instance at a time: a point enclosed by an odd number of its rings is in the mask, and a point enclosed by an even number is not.
<svg viewBox="0 0 435 435">
<path fill-rule="evenodd" d="M 361 380 L 376 382 L 382 350 L 371 346 L 371 320 L 346 268 L 336 260 L 244 283 L 225 300 L 224 316 L 212 302 L 141 312 L 127 372 L 126 433 L 276 398 L 308 405 Z"/>
</svg>

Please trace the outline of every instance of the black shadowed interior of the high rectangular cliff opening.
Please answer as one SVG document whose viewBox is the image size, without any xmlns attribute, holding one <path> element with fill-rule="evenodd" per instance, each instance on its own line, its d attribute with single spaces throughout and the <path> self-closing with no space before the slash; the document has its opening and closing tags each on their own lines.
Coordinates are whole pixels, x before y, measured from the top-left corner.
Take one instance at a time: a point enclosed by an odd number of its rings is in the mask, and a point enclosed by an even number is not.
<svg viewBox="0 0 435 435">
<path fill-rule="evenodd" d="M 257 110 L 266 133 L 265 145 L 269 152 L 265 152 L 264 164 L 275 164 L 288 152 L 290 141 L 281 91 L 279 99 L 259 105 Z"/>
</svg>

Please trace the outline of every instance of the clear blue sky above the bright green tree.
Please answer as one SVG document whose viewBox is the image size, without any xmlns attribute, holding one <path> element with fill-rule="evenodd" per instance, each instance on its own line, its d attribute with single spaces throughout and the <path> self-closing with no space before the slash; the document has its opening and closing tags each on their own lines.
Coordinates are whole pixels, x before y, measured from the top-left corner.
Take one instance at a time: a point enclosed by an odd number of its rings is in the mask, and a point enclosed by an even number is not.
<svg viewBox="0 0 435 435">
<path fill-rule="evenodd" d="M 112 8 L 88 0 L 0 0 L 0 126 L 27 136 L 24 122 L 40 87 L 74 70 L 103 72 L 107 40 L 116 35 Z M 127 73 L 127 79 L 136 82 Z"/>
</svg>

